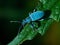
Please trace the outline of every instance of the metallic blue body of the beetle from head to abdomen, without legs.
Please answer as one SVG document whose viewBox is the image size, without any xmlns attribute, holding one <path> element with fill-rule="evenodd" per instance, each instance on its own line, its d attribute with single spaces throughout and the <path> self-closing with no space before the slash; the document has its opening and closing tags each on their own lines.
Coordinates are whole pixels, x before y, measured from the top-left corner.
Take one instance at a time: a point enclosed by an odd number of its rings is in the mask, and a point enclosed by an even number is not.
<svg viewBox="0 0 60 45">
<path fill-rule="evenodd" d="M 26 23 L 37 21 L 37 20 L 41 19 L 43 16 L 44 16 L 43 11 L 33 12 L 33 13 L 29 14 L 29 16 L 22 21 L 22 24 L 25 25 Z"/>
</svg>

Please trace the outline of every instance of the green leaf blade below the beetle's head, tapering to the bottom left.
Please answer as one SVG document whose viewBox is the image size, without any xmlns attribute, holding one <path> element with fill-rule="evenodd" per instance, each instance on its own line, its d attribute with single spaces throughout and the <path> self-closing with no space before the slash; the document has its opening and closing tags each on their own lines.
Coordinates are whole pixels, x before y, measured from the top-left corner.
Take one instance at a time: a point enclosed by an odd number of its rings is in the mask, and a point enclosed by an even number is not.
<svg viewBox="0 0 60 45">
<path fill-rule="evenodd" d="M 29 24 L 27 24 L 19 35 L 17 35 L 13 41 L 8 45 L 18 45 L 24 42 L 25 40 L 31 40 L 37 34 Z"/>
</svg>

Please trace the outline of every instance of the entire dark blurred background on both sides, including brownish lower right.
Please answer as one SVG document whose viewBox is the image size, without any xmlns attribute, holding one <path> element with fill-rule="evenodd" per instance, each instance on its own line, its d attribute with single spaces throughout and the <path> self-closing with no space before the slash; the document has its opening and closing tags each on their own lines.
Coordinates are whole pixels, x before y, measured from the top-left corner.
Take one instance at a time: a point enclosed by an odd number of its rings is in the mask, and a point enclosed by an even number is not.
<svg viewBox="0 0 60 45">
<path fill-rule="evenodd" d="M 0 45 L 9 43 L 18 33 L 19 23 L 37 6 L 39 0 L 0 0 Z M 40 36 L 38 33 L 31 41 L 21 45 L 60 45 L 60 23 L 54 21 L 49 30 Z"/>
</svg>

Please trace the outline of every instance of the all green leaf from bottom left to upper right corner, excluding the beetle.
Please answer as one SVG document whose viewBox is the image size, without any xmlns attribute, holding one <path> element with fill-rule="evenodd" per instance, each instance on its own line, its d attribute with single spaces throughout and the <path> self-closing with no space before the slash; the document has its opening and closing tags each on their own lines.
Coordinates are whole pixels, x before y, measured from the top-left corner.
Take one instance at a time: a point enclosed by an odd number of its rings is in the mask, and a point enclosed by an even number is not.
<svg viewBox="0 0 60 45">
<path fill-rule="evenodd" d="M 54 20 L 60 22 L 60 0 L 40 0 L 40 3 L 36 8 L 37 10 L 52 10 L 50 15 L 50 18 L 52 19 L 42 21 L 42 25 L 36 31 L 27 24 L 20 34 L 17 35 L 8 45 L 18 45 L 26 40 L 32 40 L 37 33 L 40 33 L 43 36 Z"/>
</svg>

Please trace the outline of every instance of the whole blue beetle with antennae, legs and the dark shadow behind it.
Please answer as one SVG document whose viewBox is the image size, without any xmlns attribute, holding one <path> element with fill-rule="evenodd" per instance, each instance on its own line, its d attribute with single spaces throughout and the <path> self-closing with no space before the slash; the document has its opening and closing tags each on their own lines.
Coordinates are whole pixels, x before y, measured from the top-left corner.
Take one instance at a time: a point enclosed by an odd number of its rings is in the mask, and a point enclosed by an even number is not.
<svg viewBox="0 0 60 45">
<path fill-rule="evenodd" d="M 21 26 L 19 30 L 21 30 L 22 27 L 24 27 L 27 23 L 30 23 L 32 28 L 37 29 L 40 26 L 40 20 L 49 19 L 49 16 L 51 14 L 51 10 L 45 10 L 45 11 L 35 11 L 33 13 L 29 13 L 29 16 L 22 20 Z M 10 21 L 10 22 L 20 22 L 20 21 Z M 38 23 L 38 27 L 35 26 L 34 22 Z"/>
</svg>

